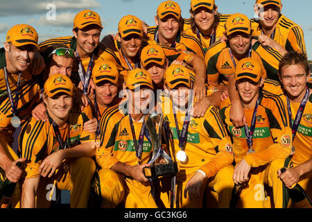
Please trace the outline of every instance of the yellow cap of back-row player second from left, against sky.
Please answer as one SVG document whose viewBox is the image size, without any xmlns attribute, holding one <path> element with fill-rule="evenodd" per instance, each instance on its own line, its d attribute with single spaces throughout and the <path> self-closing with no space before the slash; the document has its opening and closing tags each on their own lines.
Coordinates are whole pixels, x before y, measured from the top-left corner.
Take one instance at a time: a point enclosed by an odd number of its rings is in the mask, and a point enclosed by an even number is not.
<svg viewBox="0 0 312 222">
<path fill-rule="evenodd" d="M 73 19 L 73 29 L 82 29 L 85 28 L 85 26 L 89 26 L 92 24 L 96 24 L 103 28 L 101 18 L 98 13 L 89 9 L 78 12 L 78 14 Z"/>
</svg>

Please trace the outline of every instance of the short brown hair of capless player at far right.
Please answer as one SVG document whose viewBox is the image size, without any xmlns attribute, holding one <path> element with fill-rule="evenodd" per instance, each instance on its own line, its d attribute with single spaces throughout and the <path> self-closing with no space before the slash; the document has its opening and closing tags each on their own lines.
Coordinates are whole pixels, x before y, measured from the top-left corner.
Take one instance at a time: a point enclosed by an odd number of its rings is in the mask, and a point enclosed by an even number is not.
<svg viewBox="0 0 312 222">
<path fill-rule="evenodd" d="M 305 53 L 297 51 L 289 51 L 286 53 L 279 61 L 279 77 L 281 77 L 281 69 L 290 65 L 300 65 L 306 72 L 306 76 L 309 75 L 310 66 Z"/>
</svg>

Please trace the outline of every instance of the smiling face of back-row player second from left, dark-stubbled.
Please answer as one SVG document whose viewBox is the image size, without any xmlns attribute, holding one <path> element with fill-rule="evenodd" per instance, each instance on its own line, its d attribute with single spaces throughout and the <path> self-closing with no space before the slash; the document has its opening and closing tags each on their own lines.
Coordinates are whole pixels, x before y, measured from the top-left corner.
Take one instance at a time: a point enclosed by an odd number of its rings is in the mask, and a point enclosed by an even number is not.
<svg viewBox="0 0 312 222">
<path fill-rule="evenodd" d="M 78 31 L 73 31 L 77 39 L 77 51 L 80 57 L 91 56 L 100 43 L 101 27 L 97 25 L 86 26 Z"/>
</svg>

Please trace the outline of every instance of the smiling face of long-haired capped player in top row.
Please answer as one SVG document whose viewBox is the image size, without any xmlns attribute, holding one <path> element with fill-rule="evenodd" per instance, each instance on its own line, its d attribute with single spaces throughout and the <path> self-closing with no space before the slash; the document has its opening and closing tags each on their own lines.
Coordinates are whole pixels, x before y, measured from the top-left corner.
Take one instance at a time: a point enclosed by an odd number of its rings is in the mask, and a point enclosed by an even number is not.
<svg viewBox="0 0 312 222">
<path fill-rule="evenodd" d="M 204 34 L 211 31 L 214 28 L 215 16 L 218 13 L 218 9 L 214 8 L 209 10 L 205 7 L 196 8 L 195 11 L 191 12 L 191 16 L 194 18 L 194 21 L 200 31 Z"/>
</svg>

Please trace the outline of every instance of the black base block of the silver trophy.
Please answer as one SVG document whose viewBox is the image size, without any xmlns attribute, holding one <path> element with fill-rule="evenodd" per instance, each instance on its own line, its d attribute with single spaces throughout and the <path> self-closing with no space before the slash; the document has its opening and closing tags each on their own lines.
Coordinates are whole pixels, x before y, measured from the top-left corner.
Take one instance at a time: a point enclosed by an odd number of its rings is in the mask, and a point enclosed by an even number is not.
<svg viewBox="0 0 312 222">
<path fill-rule="evenodd" d="M 155 164 L 151 167 L 144 167 L 144 175 L 146 178 L 158 178 L 159 176 L 170 174 L 175 175 L 177 171 L 177 162 Z"/>
</svg>

